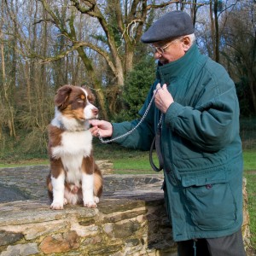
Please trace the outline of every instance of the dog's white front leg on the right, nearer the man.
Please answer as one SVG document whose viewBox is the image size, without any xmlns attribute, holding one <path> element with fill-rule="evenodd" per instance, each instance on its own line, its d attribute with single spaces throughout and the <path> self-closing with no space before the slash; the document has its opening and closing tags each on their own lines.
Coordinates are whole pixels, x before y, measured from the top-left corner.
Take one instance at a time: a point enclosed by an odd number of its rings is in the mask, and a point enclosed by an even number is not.
<svg viewBox="0 0 256 256">
<path fill-rule="evenodd" d="M 93 197 L 94 175 L 82 174 L 82 190 L 84 207 L 96 208 L 96 202 Z"/>
</svg>

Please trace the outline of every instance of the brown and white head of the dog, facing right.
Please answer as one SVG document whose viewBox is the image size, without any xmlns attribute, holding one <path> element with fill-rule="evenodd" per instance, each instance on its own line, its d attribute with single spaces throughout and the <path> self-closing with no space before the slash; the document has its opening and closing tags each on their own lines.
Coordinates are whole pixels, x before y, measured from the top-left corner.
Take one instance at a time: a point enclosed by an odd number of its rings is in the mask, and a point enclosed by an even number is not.
<svg viewBox="0 0 256 256">
<path fill-rule="evenodd" d="M 85 121 L 98 117 L 98 108 L 93 105 L 95 96 L 89 88 L 63 85 L 57 90 L 55 106 L 67 118 Z"/>
</svg>

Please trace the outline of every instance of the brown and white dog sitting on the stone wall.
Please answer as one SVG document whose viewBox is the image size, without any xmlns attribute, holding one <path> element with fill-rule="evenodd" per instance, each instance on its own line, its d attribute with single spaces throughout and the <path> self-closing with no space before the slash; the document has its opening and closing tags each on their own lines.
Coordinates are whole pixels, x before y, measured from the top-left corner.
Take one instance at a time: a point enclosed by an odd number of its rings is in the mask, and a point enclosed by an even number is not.
<svg viewBox="0 0 256 256">
<path fill-rule="evenodd" d="M 49 125 L 51 209 L 84 203 L 95 208 L 102 195 L 102 173 L 92 154 L 90 119 L 96 119 L 95 97 L 84 87 L 64 85 L 55 96 L 55 118 Z"/>
</svg>

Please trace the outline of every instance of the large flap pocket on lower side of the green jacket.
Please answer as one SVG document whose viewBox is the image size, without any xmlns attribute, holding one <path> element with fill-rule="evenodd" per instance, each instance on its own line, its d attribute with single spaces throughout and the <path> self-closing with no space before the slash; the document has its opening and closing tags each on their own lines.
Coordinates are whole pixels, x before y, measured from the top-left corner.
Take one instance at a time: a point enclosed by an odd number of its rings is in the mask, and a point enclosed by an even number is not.
<svg viewBox="0 0 256 256">
<path fill-rule="evenodd" d="M 224 172 L 182 177 L 188 214 L 201 230 L 224 230 L 236 222 L 236 201 Z"/>
</svg>

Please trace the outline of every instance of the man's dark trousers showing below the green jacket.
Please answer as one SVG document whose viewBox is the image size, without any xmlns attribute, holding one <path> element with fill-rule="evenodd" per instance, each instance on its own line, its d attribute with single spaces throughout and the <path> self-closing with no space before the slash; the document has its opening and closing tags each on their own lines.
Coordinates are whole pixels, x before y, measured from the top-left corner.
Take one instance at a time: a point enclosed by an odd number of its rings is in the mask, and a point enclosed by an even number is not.
<svg viewBox="0 0 256 256">
<path fill-rule="evenodd" d="M 178 256 L 245 256 L 241 230 L 230 236 L 177 242 Z"/>
</svg>

